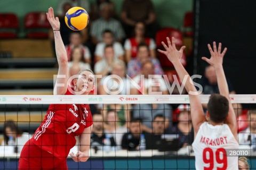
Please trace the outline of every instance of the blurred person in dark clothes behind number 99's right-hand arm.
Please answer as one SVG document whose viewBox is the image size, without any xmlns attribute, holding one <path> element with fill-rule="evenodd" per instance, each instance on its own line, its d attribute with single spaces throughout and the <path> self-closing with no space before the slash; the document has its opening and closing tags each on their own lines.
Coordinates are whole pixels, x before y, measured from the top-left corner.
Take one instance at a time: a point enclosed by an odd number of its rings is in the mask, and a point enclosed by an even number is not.
<svg viewBox="0 0 256 170">
<path fill-rule="evenodd" d="M 205 67 L 205 73 L 202 79 L 200 79 L 199 84 L 203 86 L 203 93 L 202 94 L 214 94 L 214 93 L 220 93 L 219 87 L 217 84 L 217 75 L 215 72 L 215 68 L 213 66 L 207 66 Z M 236 94 L 233 85 L 231 84 L 230 80 L 227 78 L 228 83 L 228 89 L 229 94 Z M 207 104 L 203 104 L 203 108 L 206 111 Z M 239 116 L 242 114 L 242 105 L 234 103 L 233 108 L 235 111 L 236 116 Z"/>
</svg>

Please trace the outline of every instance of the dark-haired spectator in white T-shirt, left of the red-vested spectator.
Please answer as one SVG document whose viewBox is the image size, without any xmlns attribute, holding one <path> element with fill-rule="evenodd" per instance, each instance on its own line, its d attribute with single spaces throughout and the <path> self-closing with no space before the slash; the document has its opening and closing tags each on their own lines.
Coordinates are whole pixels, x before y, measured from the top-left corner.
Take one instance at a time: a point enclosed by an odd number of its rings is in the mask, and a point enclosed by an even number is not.
<svg viewBox="0 0 256 170">
<path fill-rule="evenodd" d="M 111 30 L 106 29 L 102 34 L 103 42 L 100 42 L 95 47 L 94 57 L 95 61 L 99 61 L 103 58 L 104 48 L 106 45 L 113 45 L 115 58 L 124 60 L 124 49 L 121 43 L 115 41 L 114 34 Z"/>
</svg>

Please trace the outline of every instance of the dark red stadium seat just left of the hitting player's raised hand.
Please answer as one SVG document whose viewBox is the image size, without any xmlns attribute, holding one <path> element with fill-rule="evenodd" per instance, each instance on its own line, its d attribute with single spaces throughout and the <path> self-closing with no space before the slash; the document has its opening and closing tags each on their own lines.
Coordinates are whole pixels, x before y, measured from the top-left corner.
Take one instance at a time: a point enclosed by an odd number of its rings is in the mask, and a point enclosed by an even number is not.
<svg viewBox="0 0 256 170">
<path fill-rule="evenodd" d="M 51 28 L 45 12 L 30 12 L 25 17 L 25 29 L 27 38 L 48 38 Z"/>
</svg>

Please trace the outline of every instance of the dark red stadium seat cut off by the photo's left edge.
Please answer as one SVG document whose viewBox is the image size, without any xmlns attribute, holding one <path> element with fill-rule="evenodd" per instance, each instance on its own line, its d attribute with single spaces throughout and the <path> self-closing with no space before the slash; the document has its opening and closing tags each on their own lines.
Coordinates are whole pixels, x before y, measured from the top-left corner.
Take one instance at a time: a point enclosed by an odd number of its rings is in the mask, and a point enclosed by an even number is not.
<svg viewBox="0 0 256 170">
<path fill-rule="evenodd" d="M 0 38 L 17 38 L 19 29 L 18 17 L 14 13 L 0 13 Z"/>
</svg>

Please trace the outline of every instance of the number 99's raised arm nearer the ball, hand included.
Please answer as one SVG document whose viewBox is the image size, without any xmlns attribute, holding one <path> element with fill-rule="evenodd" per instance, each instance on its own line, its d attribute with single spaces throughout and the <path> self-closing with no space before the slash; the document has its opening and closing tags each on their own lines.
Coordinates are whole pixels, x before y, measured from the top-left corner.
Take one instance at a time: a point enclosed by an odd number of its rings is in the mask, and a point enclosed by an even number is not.
<svg viewBox="0 0 256 170">
<path fill-rule="evenodd" d="M 159 49 L 158 51 L 165 54 L 167 58 L 172 62 L 175 70 L 178 72 L 180 79 L 181 80 L 186 79 L 185 88 L 189 94 L 190 110 L 191 110 L 190 114 L 191 114 L 192 124 L 194 127 L 194 133 L 196 136 L 200 125 L 206 121 L 206 118 L 204 116 L 202 104 L 197 95 L 196 87 L 194 86 L 188 72 L 180 62 L 180 58 L 182 56 L 183 50 L 185 49 L 185 46 L 182 46 L 178 51 L 174 43 L 175 41 L 174 37 L 172 37 L 172 43 L 168 37 L 166 39 L 167 39 L 168 46 L 165 45 L 164 42 L 162 42 L 166 51 L 162 51 Z"/>
</svg>

